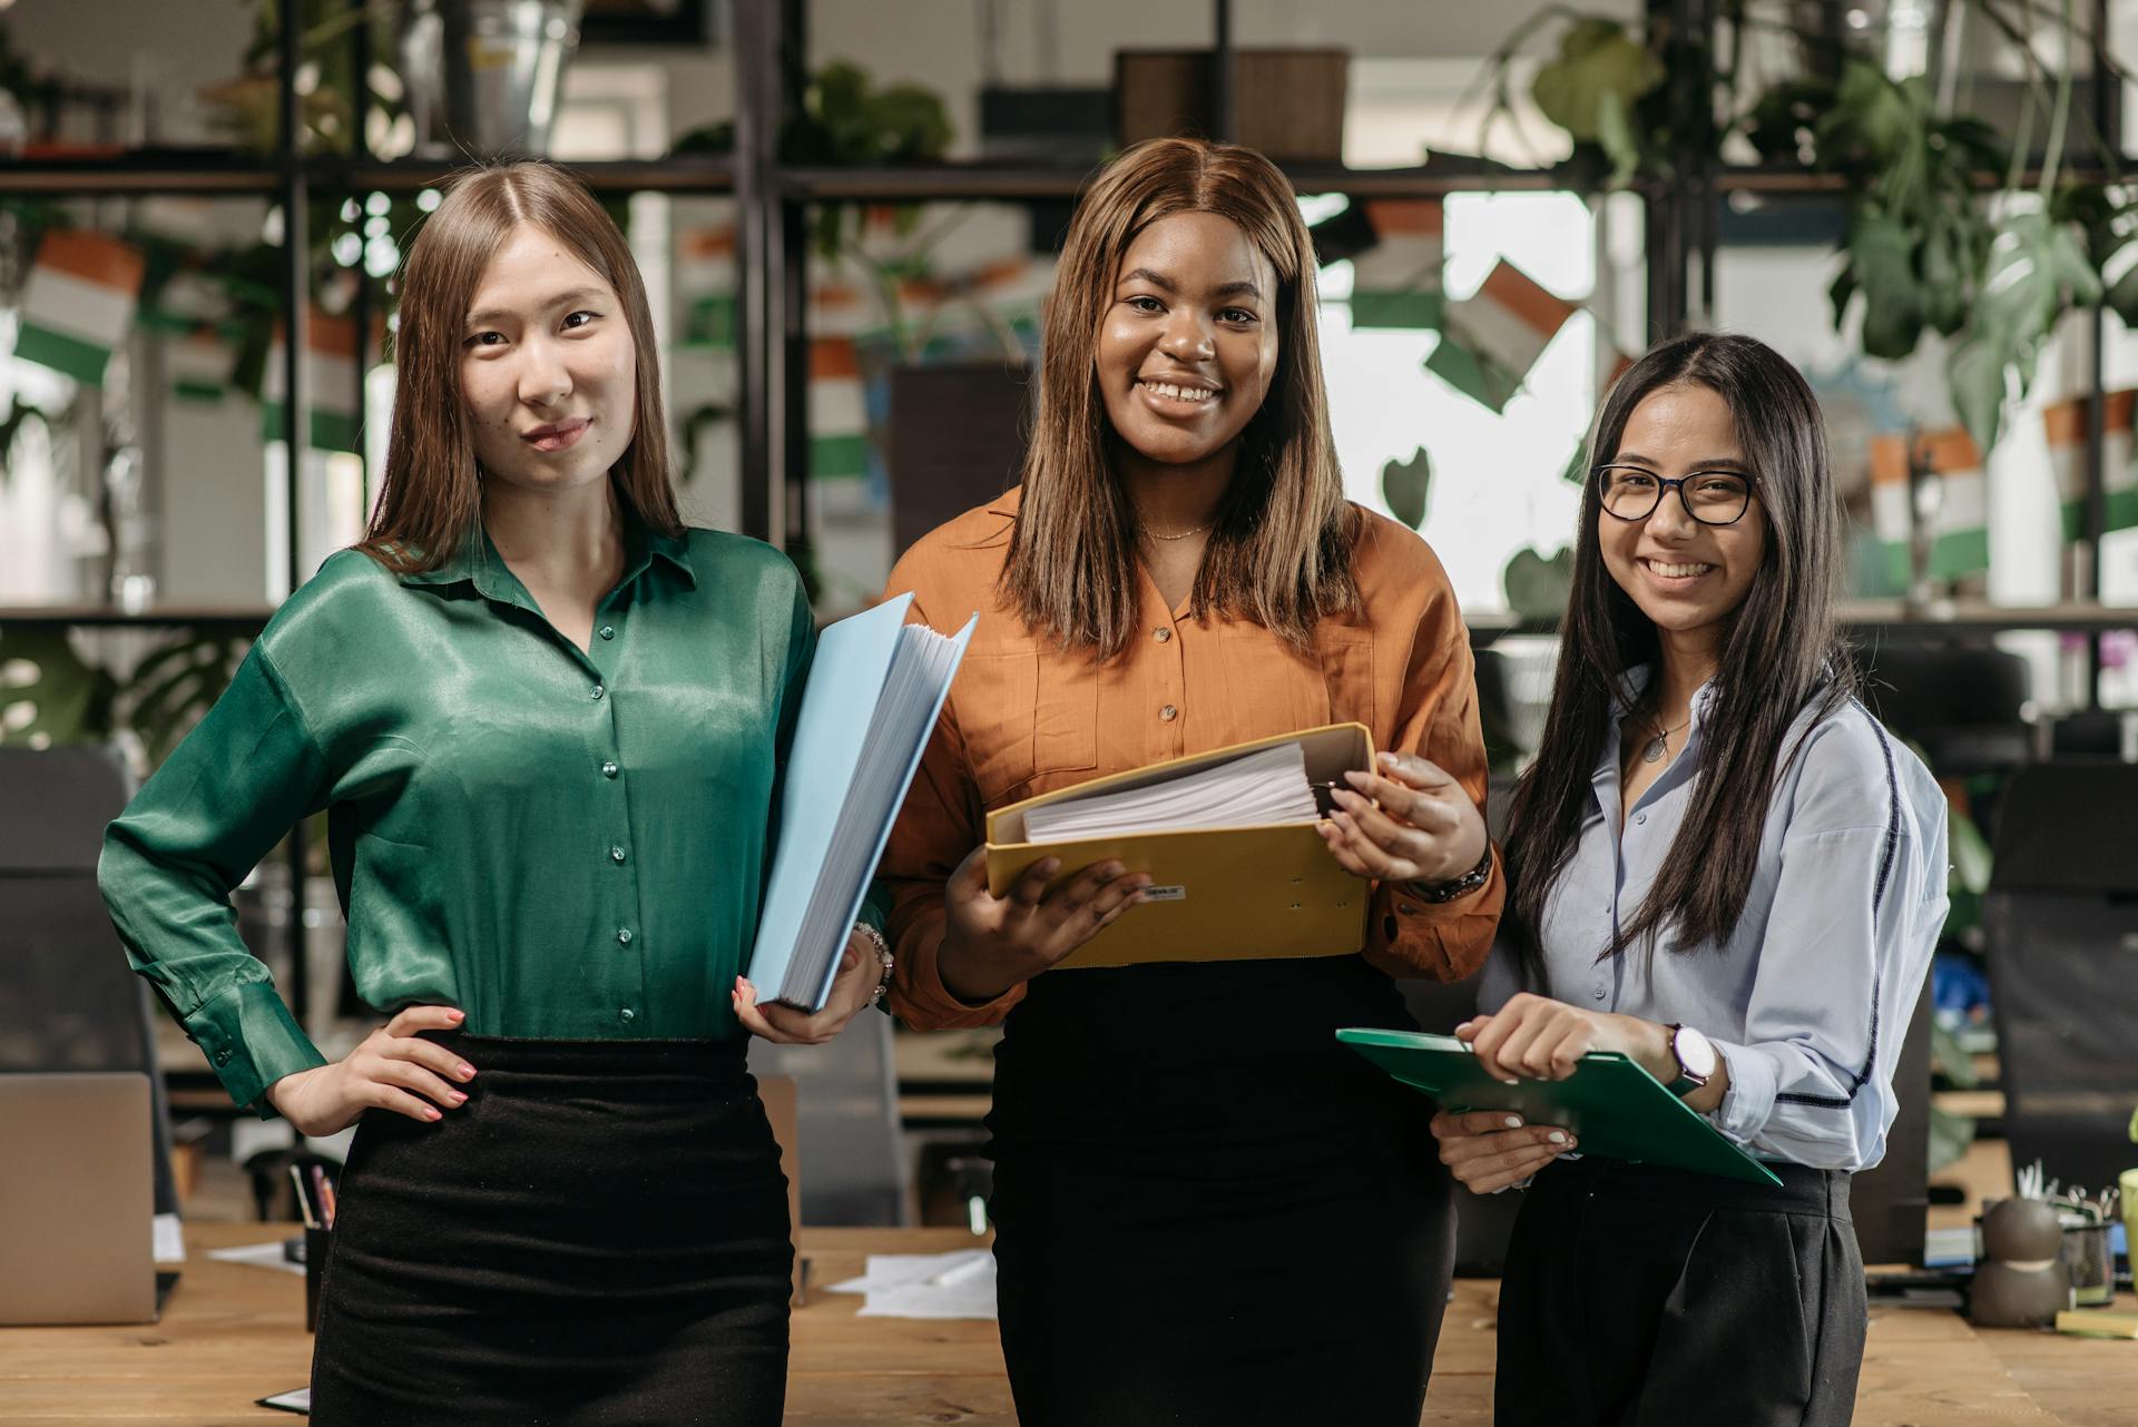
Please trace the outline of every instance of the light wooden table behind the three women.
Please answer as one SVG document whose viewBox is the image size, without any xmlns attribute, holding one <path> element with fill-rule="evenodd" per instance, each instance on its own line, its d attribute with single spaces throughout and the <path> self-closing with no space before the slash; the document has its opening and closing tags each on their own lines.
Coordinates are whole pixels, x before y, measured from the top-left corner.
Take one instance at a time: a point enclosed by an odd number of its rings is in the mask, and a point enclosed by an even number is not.
<svg viewBox="0 0 2138 1427">
<path fill-rule="evenodd" d="M 306 1380 L 304 1282 L 205 1256 L 286 1233 L 269 1224 L 190 1226 L 192 1260 L 162 1322 L 0 1329 L 0 1423 L 291 1423 L 252 1401 Z M 992 1322 L 855 1318 L 859 1297 L 821 1290 L 859 1275 L 870 1252 L 932 1254 L 971 1243 L 960 1228 L 804 1230 L 817 1288 L 793 1320 L 787 1421 L 1013 1427 Z M 1424 1423 L 1492 1421 L 1497 1297 L 1492 1282 L 1456 1284 Z M 1330 1421 L 1341 1423 L 1341 1404 L 1330 1406 Z M 1943 1310 L 1873 1310 L 1856 1427 L 1976 1423 L 2138 1427 L 2138 1342 L 1976 1331 Z"/>
</svg>

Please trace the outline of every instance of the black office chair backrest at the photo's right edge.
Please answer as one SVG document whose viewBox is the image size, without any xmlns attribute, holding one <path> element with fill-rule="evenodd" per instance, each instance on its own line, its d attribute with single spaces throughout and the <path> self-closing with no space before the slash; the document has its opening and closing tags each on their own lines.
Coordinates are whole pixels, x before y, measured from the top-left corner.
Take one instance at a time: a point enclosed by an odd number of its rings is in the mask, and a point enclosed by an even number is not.
<svg viewBox="0 0 2138 1427">
<path fill-rule="evenodd" d="M 2138 765 L 2023 771 L 1995 848 L 1982 931 L 2012 1164 L 2100 1192 L 2138 1164 Z"/>
</svg>

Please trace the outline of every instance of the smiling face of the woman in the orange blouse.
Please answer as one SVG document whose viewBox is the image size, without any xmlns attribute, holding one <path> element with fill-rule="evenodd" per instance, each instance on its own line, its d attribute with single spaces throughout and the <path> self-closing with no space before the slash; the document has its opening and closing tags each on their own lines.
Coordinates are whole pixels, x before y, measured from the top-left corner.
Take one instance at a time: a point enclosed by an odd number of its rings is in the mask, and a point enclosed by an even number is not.
<svg viewBox="0 0 2138 1427">
<path fill-rule="evenodd" d="M 1227 218 L 1161 218 L 1120 258 L 1095 361 L 1105 417 L 1137 455 L 1217 455 L 1276 372 L 1276 271 Z"/>
</svg>

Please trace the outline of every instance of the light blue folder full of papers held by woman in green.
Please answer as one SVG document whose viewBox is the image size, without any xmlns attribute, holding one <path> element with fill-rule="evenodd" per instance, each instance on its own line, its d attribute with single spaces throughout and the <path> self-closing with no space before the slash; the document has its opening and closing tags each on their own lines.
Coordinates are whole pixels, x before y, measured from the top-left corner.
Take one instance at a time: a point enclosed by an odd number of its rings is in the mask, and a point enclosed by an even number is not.
<svg viewBox="0 0 2138 1427">
<path fill-rule="evenodd" d="M 768 1002 L 823 1008 L 838 955 L 892 818 L 921 763 L 979 615 L 956 637 L 907 624 L 902 594 L 817 639 L 780 793 L 750 985 Z"/>
</svg>

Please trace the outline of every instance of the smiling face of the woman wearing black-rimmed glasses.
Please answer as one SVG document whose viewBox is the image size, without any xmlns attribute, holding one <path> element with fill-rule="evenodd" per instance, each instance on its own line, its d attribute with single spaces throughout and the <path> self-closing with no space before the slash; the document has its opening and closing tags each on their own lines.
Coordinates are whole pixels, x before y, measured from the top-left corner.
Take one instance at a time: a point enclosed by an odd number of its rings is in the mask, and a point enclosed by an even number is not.
<svg viewBox="0 0 2138 1427">
<path fill-rule="evenodd" d="M 1657 387 L 1642 397 L 1610 461 L 1666 481 L 1700 470 L 1753 474 L 1730 406 L 1710 387 L 1695 385 Z M 1672 487 L 1646 519 L 1625 521 L 1597 511 L 1597 543 L 1604 568 L 1666 643 L 1674 643 L 1672 637 L 1715 643 L 1760 570 L 1766 511 L 1753 493 L 1734 526 L 1702 526 Z"/>
</svg>

